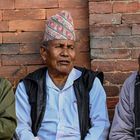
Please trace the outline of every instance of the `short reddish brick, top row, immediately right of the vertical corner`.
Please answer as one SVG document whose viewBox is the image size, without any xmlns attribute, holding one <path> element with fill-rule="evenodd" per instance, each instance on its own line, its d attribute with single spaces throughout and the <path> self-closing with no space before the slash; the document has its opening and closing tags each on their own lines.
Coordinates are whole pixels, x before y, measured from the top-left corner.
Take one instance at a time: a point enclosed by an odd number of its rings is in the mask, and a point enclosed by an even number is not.
<svg viewBox="0 0 140 140">
<path fill-rule="evenodd" d="M 89 2 L 89 13 L 112 13 L 111 2 Z"/>
</svg>

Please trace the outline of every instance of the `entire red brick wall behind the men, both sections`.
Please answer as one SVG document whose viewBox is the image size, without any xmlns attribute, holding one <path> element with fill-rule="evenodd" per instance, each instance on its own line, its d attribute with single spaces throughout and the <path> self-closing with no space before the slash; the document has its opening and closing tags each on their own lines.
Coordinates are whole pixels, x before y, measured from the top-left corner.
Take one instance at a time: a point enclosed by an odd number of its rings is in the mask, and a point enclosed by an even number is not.
<svg viewBox="0 0 140 140">
<path fill-rule="evenodd" d="M 138 67 L 138 0 L 0 0 L 0 76 L 15 86 L 20 78 L 43 66 L 39 48 L 45 20 L 62 9 L 74 18 L 75 64 L 105 73 L 112 119 L 122 83 Z"/>
</svg>

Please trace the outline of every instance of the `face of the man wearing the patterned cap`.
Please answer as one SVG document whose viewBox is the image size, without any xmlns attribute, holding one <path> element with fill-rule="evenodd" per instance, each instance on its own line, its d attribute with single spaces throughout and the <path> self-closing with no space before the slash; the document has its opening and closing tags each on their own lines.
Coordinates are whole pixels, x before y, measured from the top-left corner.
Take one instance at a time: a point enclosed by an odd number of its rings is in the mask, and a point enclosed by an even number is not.
<svg viewBox="0 0 140 140">
<path fill-rule="evenodd" d="M 46 62 L 49 72 L 68 75 L 75 60 L 74 41 L 49 41 L 47 47 L 41 47 L 41 56 Z"/>
</svg>

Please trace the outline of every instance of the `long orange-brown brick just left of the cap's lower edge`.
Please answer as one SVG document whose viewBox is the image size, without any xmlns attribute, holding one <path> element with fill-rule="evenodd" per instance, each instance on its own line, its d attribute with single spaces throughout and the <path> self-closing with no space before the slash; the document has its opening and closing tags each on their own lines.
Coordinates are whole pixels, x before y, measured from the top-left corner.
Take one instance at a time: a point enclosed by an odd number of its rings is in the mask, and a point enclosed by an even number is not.
<svg viewBox="0 0 140 140">
<path fill-rule="evenodd" d="M 3 43 L 38 43 L 42 38 L 42 32 L 3 33 Z"/>
</svg>

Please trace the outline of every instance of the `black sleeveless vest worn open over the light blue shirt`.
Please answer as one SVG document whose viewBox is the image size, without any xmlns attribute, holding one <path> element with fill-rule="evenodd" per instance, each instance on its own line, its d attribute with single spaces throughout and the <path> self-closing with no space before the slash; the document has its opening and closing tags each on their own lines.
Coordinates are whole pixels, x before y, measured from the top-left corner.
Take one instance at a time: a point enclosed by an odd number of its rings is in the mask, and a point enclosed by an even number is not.
<svg viewBox="0 0 140 140">
<path fill-rule="evenodd" d="M 103 83 L 103 73 L 93 72 L 85 68 L 75 68 L 82 72 L 81 76 L 74 81 L 73 86 L 77 99 L 81 140 L 84 140 L 84 137 L 91 127 L 89 118 L 89 92 L 96 76 L 100 79 L 101 83 Z M 46 67 L 41 68 L 30 73 L 22 80 L 31 105 L 32 132 L 35 136 L 37 136 L 45 113 L 47 96 L 45 90 L 46 70 Z"/>
</svg>

